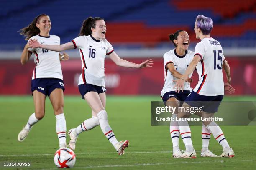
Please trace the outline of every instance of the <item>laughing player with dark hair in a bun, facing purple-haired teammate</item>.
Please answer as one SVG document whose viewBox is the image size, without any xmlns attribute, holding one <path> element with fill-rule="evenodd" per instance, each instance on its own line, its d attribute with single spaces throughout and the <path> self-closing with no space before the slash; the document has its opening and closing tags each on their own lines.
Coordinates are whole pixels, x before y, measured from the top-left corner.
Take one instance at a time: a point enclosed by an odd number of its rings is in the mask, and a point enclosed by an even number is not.
<svg viewBox="0 0 256 170">
<path fill-rule="evenodd" d="M 174 86 L 175 83 L 173 80 L 177 80 L 182 77 L 185 70 L 187 69 L 189 63 L 194 57 L 194 52 L 187 50 L 189 47 L 189 35 L 184 30 L 178 30 L 174 34 L 169 35 L 169 39 L 174 43 L 175 49 L 170 50 L 164 54 L 164 87 L 161 91 L 161 97 L 164 101 L 164 104 L 170 107 L 179 107 L 183 104 L 186 97 L 192 91 L 190 87 L 190 82 L 192 79 L 192 73 L 187 77 L 186 82 L 184 83 L 184 91 L 181 93 L 175 92 Z M 201 116 L 201 115 L 200 115 Z M 173 121 L 170 123 L 170 134 L 172 138 L 173 146 L 173 157 L 180 158 L 182 152 L 179 150 L 179 125 L 176 121 L 177 112 L 174 112 L 172 115 Z M 209 130 L 202 125 L 202 143 L 203 148 L 209 146 L 210 138 L 204 138 L 204 135 L 208 136 L 211 134 Z M 217 155 L 213 154 L 208 150 L 208 153 L 204 156 L 216 157 Z"/>
</svg>

